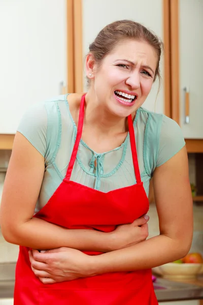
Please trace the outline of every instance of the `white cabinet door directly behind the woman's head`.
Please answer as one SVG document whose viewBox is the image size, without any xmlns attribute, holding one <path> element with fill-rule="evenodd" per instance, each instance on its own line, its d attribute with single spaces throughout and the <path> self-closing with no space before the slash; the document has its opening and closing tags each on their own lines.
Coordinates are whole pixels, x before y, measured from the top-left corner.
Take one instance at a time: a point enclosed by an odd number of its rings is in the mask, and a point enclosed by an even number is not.
<svg viewBox="0 0 203 305">
<path fill-rule="evenodd" d="M 162 0 L 83 0 L 83 58 L 89 51 L 98 32 L 107 24 L 122 19 L 131 19 L 149 27 L 163 39 Z M 161 63 L 161 75 L 163 75 Z M 164 111 L 163 80 L 157 101 L 158 81 L 153 85 L 143 107 Z M 85 89 L 85 77 L 84 77 Z M 156 105 L 155 105 L 156 104 Z"/>
</svg>

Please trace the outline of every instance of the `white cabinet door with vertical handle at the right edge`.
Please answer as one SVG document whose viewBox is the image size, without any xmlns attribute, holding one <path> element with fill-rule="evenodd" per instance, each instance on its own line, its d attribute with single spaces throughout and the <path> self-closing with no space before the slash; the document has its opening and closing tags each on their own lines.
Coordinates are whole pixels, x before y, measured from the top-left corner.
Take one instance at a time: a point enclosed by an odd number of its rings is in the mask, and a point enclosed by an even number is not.
<svg viewBox="0 0 203 305">
<path fill-rule="evenodd" d="M 180 125 L 185 138 L 203 138 L 203 1 L 179 0 Z M 189 91 L 185 124 L 184 87 Z"/>
</svg>

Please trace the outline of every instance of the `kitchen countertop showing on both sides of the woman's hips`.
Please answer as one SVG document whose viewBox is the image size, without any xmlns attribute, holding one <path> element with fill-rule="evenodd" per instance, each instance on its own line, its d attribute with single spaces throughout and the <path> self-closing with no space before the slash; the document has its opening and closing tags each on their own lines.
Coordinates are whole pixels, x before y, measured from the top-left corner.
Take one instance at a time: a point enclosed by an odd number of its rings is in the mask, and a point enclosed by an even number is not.
<svg viewBox="0 0 203 305">
<path fill-rule="evenodd" d="M 0 264 L 0 299 L 12 298 L 14 291 L 15 263 Z M 154 283 L 159 302 L 203 299 L 203 278 L 169 281 L 157 278 Z"/>
</svg>

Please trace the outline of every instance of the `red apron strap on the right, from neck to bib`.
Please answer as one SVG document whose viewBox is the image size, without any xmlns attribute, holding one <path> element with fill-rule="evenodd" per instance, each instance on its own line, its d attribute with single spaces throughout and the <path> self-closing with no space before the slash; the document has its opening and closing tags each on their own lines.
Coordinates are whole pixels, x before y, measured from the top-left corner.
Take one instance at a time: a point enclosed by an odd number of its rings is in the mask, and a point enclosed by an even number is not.
<svg viewBox="0 0 203 305">
<path fill-rule="evenodd" d="M 131 153 L 132 153 L 132 161 L 134 165 L 134 173 L 136 175 L 137 183 L 141 183 L 141 176 L 140 176 L 140 169 L 138 164 L 138 154 L 136 149 L 136 138 L 134 136 L 134 127 L 132 123 L 132 116 L 128 115 L 128 128 L 129 128 L 129 135 L 130 135 L 130 146 L 131 146 Z"/>
</svg>

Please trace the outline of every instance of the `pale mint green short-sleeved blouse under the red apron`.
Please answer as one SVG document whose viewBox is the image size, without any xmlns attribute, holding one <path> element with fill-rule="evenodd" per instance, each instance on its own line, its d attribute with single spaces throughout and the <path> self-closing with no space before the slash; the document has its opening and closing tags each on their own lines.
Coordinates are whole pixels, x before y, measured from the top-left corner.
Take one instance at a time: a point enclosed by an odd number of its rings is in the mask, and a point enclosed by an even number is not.
<svg viewBox="0 0 203 305">
<path fill-rule="evenodd" d="M 137 110 L 133 126 L 141 179 L 148 195 L 154 169 L 177 154 L 185 141 L 174 120 L 142 107 Z M 77 126 L 69 110 L 68 95 L 32 106 L 23 115 L 17 131 L 45 159 L 37 212 L 61 184 L 71 158 Z M 119 147 L 102 154 L 96 153 L 81 139 L 71 180 L 101 192 L 136 184 L 129 133 Z"/>
</svg>

